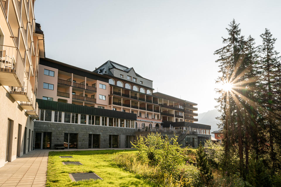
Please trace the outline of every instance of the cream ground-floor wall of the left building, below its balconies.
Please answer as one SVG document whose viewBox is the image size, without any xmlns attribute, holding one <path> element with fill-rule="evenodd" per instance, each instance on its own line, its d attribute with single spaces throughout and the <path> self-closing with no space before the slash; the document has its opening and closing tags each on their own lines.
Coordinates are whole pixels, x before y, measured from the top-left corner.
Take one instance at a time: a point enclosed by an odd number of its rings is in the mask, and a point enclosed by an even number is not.
<svg viewBox="0 0 281 187">
<path fill-rule="evenodd" d="M 27 128 L 26 136 L 26 153 L 28 153 L 28 143 L 30 143 L 30 150 L 32 149 L 31 137 L 28 139 L 29 129 L 33 131 L 34 122 L 25 113 L 25 111 L 18 105 L 18 103 L 10 96 L 10 94 L 0 86 L 0 167 L 5 164 L 6 157 L 6 141 L 7 141 L 7 127 L 8 119 L 13 121 L 13 132 L 11 137 L 11 155 L 9 161 L 13 161 L 17 157 L 17 143 L 18 143 L 18 124 L 21 126 L 20 133 L 20 156 L 23 155 L 23 137 L 24 129 Z M 33 132 L 34 133 L 34 132 Z"/>
</svg>

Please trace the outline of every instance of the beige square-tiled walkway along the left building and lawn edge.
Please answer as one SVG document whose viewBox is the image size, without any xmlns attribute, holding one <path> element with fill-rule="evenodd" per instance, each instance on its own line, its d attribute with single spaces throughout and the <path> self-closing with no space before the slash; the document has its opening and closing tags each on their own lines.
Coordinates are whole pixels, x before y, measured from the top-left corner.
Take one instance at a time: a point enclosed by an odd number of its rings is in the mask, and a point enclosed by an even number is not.
<svg viewBox="0 0 281 187">
<path fill-rule="evenodd" d="M 123 150 L 131 148 L 114 148 Z M 49 151 L 82 151 L 109 149 L 65 149 L 65 150 L 33 150 L 8 162 L 0 168 L 0 187 L 41 187 L 47 179 L 47 165 Z"/>
</svg>

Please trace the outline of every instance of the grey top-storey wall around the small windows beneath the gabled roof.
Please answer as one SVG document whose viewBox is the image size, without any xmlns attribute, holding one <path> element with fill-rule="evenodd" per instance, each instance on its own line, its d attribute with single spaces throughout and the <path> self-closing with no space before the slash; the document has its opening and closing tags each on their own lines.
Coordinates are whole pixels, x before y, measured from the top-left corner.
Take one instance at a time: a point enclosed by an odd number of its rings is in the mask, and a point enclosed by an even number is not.
<svg viewBox="0 0 281 187">
<path fill-rule="evenodd" d="M 153 81 L 148 80 L 148 79 L 144 79 L 144 78 L 141 78 L 141 77 L 138 77 L 133 69 L 131 69 L 131 71 L 129 71 L 129 72 L 124 72 L 124 71 L 118 70 L 118 69 L 116 69 L 116 68 L 112 68 L 110 71 L 112 72 L 112 74 L 114 75 L 114 77 L 118 77 L 118 78 L 122 79 L 122 78 L 120 77 L 120 74 L 121 74 L 121 75 L 124 75 L 124 78 L 123 78 L 124 80 L 126 80 L 126 81 L 128 81 L 128 82 L 132 82 L 132 83 L 134 83 L 134 82 L 133 82 L 133 77 L 135 77 L 135 78 L 137 78 L 137 82 L 136 82 L 136 83 L 140 84 L 140 81 L 142 81 L 142 82 L 143 82 L 143 86 L 147 86 L 147 87 L 152 88 L 152 83 L 153 83 Z M 132 77 L 132 80 L 131 80 L 131 81 L 129 81 L 129 80 L 127 79 L 127 75 L 129 75 L 129 76 Z M 124 85 L 124 87 L 125 87 L 125 85 Z M 132 88 L 132 89 L 133 89 L 133 88 Z M 150 91 L 153 92 L 152 90 L 150 90 Z"/>
</svg>

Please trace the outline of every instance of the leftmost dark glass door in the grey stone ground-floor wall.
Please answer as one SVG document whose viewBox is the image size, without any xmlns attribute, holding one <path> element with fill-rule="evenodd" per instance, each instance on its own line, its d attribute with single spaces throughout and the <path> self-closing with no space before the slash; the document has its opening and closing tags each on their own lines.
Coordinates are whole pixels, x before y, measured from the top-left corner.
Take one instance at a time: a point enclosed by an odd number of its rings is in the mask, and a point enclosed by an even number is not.
<svg viewBox="0 0 281 187">
<path fill-rule="evenodd" d="M 51 132 L 35 132 L 34 149 L 51 149 Z"/>
</svg>

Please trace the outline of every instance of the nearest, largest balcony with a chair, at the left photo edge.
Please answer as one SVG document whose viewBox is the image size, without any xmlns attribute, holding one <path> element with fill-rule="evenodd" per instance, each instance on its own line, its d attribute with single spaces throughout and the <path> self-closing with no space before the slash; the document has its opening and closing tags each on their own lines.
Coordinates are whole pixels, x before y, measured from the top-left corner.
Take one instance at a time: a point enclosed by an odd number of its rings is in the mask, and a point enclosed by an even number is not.
<svg viewBox="0 0 281 187">
<path fill-rule="evenodd" d="M 0 84 L 22 87 L 25 65 L 16 47 L 0 45 Z"/>
</svg>

